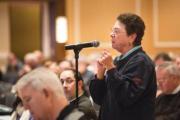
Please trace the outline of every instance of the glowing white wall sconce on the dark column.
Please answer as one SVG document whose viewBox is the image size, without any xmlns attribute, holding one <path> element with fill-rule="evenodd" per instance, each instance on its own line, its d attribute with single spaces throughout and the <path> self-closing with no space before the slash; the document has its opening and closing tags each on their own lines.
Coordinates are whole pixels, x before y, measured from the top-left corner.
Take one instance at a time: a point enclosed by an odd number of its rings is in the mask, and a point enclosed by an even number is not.
<svg viewBox="0 0 180 120">
<path fill-rule="evenodd" d="M 56 42 L 65 43 L 67 42 L 67 18 L 59 16 L 56 18 Z"/>
</svg>

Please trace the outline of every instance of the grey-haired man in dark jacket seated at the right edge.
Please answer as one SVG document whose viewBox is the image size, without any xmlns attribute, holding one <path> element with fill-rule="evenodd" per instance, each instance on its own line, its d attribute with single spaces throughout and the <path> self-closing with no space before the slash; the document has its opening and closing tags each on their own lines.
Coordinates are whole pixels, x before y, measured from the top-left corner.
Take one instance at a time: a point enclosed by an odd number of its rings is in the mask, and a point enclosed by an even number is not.
<svg viewBox="0 0 180 120">
<path fill-rule="evenodd" d="M 156 120 L 180 120 L 180 69 L 172 62 L 157 68 L 162 94 L 156 99 Z"/>
</svg>

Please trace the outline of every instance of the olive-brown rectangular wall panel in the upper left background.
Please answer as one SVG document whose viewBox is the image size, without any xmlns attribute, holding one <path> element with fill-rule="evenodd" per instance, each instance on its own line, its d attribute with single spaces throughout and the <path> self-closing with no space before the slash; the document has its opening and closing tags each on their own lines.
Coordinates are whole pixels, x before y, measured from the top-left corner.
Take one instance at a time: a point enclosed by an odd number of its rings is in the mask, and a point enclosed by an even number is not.
<svg viewBox="0 0 180 120">
<path fill-rule="evenodd" d="M 11 50 L 23 59 L 28 52 L 41 49 L 39 2 L 11 3 Z"/>
</svg>

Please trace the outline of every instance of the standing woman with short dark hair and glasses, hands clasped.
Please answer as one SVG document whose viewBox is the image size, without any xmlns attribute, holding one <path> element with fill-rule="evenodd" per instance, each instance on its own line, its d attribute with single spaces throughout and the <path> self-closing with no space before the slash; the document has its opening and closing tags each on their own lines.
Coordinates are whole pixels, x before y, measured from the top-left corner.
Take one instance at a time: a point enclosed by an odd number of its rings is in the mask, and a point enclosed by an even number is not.
<svg viewBox="0 0 180 120">
<path fill-rule="evenodd" d="M 112 28 L 112 48 L 121 53 L 113 61 L 104 50 L 90 93 L 100 107 L 100 120 L 154 120 L 156 75 L 152 60 L 143 51 L 143 20 L 121 14 Z"/>
</svg>

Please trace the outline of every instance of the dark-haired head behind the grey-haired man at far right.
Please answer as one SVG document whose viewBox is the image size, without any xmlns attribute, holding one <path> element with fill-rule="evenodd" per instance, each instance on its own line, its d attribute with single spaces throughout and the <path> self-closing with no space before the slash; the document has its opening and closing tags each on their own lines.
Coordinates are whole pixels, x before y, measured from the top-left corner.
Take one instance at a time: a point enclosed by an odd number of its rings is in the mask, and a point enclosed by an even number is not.
<svg viewBox="0 0 180 120">
<path fill-rule="evenodd" d="M 159 53 L 156 55 L 156 57 L 154 58 L 154 63 L 156 66 L 164 63 L 165 61 L 172 61 L 172 58 L 167 54 L 167 53 Z"/>
</svg>

